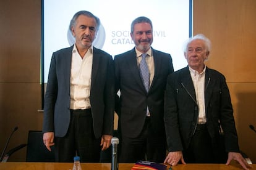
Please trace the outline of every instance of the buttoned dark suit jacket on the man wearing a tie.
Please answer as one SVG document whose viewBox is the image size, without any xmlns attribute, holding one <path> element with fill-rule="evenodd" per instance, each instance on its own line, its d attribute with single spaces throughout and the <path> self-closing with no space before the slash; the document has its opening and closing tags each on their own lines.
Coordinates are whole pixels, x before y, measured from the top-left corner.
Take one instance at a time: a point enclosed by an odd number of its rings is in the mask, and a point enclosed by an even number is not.
<svg viewBox="0 0 256 170">
<path fill-rule="evenodd" d="M 173 62 L 169 54 L 154 49 L 152 52 L 155 75 L 148 93 L 140 78 L 135 48 L 114 57 L 116 91 L 121 92 L 120 98 L 116 101 L 116 110 L 122 136 L 139 136 L 145 123 L 147 106 L 156 134 L 164 133 L 164 89 L 168 75 L 173 73 Z"/>
</svg>

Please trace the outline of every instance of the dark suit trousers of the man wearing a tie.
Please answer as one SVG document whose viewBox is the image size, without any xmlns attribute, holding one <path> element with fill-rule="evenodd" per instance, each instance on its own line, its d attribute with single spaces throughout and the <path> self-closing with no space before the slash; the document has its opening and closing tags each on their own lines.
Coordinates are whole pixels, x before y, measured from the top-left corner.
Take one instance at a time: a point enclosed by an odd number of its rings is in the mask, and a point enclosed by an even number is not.
<svg viewBox="0 0 256 170">
<path fill-rule="evenodd" d="M 147 118 L 138 137 L 122 136 L 119 163 L 136 163 L 139 160 L 163 163 L 166 156 L 165 141 L 164 133 L 155 134 L 150 124 L 150 118 Z"/>
</svg>

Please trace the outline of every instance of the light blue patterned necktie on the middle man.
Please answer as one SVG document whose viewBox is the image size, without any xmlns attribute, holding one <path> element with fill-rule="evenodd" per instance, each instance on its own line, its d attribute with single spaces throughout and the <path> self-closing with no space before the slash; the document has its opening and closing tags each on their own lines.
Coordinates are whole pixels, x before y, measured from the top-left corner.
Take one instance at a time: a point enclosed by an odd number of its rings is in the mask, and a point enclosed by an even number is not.
<svg viewBox="0 0 256 170">
<path fill-rule="evenodd" d="M 145 89 L 148 92 L 149 82 L 150 82 L 150 73 L 148 71 L 146 57 L 147 57 L 147 54 L 143 53 L 142 60 L 140 61 L 140 75 L 142 76 L 142 81 L 145 86 Z"/>
</svg>

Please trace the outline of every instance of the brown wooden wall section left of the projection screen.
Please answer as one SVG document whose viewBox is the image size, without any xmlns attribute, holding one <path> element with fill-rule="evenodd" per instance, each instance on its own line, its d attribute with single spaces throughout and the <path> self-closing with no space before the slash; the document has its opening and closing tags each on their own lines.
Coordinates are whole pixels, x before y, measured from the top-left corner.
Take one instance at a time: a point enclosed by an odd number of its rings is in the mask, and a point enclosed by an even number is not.
<svg viewBox="0 0 256 170">
<path fill-rule="evenodd" d="M 27 144 L 28 130 L 40 130 L 41 1 L 0 1 L 0 151 Z M 26 148 L 11 161 L 25 161 Z"/>
</svg>

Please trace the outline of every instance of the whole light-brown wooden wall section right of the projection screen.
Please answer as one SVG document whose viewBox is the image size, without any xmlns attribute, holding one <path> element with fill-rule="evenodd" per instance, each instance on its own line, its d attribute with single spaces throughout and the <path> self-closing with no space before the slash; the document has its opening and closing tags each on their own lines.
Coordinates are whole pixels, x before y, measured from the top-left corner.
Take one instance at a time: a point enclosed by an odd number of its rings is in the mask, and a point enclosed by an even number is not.
<svg viewBox="0 0 256 170">
<path fill-rule="evenodd" d="M 256 163 L 256 1 L 194 0 L 194 34 L 211 39 L 208 67 L 226 76 L 240 148 Z"/>
</svg>

